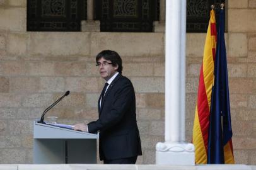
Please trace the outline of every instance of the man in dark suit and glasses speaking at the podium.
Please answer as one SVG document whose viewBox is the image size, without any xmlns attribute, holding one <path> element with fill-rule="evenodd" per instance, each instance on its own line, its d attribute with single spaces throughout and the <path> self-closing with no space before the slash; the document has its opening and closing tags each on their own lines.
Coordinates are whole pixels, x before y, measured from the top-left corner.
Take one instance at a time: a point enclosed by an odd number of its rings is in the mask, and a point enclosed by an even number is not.
<svg viewBox="0 0 256 170">
<path fill-rule="evenodd" d="M 100 131 L 100 160 L 104 164 L 135 164 L 141 155 L 136 121 L 136 100 L 132 82 L 122 76 L 122 59 L 117 52 L 104 50 L 96 56 L 96 66 L 106 84 L 98 99 L 99 118 L 75 130 Z"/>
</svg>

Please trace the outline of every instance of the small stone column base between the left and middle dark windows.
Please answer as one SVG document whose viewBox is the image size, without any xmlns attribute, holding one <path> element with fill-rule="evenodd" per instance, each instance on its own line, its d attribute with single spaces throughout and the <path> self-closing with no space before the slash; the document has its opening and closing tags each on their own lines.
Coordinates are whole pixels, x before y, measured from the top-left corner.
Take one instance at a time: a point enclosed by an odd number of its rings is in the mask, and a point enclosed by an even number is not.
<svg viewBox="0 0 256 170">
<path fill-rule="evenodd" d="M 100 32 L 100 21 L 83 20 L 81 21 L 82 32 Z"/>
</svg>

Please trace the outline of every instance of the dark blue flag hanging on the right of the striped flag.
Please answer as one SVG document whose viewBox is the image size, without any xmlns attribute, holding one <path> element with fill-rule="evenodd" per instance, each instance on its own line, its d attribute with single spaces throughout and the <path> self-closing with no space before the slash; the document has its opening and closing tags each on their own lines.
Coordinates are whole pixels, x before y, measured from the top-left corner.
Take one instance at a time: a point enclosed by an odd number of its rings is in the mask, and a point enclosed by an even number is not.
<svg viewBox="0 0 256 170">
<path fill-rule="evenodd" d="M 226 159 L 233 160 L 231 137 L 230 94 L 224 40 L 224 9 L 221 9 L 219 13 L 216 59 L 214 62 L 207 164 L 224 164 L 228 162 Z M 228 148 L 230 149 L 224 149 L 225 145 L 229 145 Z M 231 154 L 225 152 L 231 152 Z M 228 158 L 227 156 L 232 157 Z"/>
</svg>

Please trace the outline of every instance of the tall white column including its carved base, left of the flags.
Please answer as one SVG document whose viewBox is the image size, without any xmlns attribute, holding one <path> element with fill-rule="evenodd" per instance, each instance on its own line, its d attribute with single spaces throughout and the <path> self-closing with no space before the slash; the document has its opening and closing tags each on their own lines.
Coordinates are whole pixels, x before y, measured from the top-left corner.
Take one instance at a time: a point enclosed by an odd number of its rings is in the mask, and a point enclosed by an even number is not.
<svg viewBox="0 0 256 170">
<path fill-rule="evenodd" d="M 185 142 L 186 0 L 166 1 L 165 11 L 165 142 L 156 144 L 156 164 L 194 165 Z"/>
</svg>

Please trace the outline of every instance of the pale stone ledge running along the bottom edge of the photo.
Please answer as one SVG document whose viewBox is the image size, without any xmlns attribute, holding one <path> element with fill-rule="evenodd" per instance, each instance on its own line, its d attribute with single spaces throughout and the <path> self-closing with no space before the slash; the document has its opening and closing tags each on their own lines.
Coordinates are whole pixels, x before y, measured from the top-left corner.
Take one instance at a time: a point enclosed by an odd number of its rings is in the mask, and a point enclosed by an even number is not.
<svg viewBox="0 0 256 170">
<path fill-rule="evenodd" d="M 235 165 L 198 165 L 198 166 L 161 166 L 155 164 L 149 165 L 103 165 L 103 164 L 1 164 L 0 170 L 84 170 L 84 169 L 122 169 L 122 170 L 153 170 L 153 169 L 168 169 L 168 170 L 255 170 L 256 166 L 247 166 L 243 164 Z"/>
</svg>

